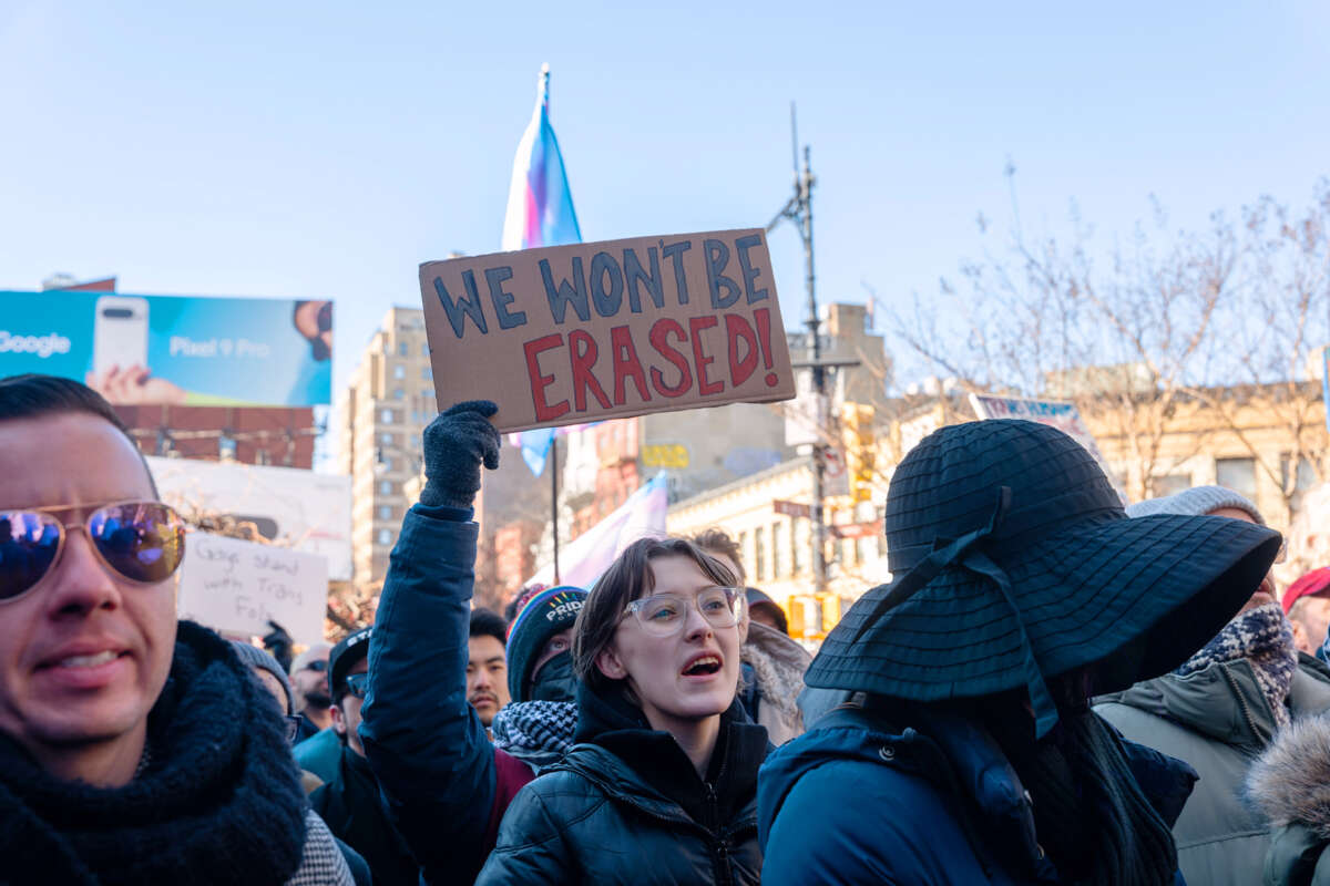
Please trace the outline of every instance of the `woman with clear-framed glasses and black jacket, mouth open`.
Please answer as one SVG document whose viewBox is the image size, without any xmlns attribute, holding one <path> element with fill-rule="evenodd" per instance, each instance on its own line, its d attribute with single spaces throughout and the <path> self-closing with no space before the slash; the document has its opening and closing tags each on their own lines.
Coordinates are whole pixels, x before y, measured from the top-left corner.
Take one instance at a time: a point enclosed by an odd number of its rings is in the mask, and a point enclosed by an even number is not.
<svg viewBox="0 0 1330 886">
<path fill-rule="evenodd" d="M 735 701 L 735 584 L 678 538 L 601 576 L 573 632 L 577 744 L 513 798 L 477 886 L 759 882 L 771 745 Z"/>
</svg>

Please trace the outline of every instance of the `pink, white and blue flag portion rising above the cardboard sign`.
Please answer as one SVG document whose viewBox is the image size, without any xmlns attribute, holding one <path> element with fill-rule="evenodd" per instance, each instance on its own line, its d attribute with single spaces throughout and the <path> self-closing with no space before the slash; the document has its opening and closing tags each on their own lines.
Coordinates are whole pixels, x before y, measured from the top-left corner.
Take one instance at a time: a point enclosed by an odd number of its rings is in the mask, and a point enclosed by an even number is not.
<svg viewBox="0 0 1330 886">
<path fill-rule="evenodd" d="M 541 65 L 536 113 L 512 161 L 501 248 L 507 252 L 568 243 L 581 243 L 581 228 L 573 211 L 573 195 L 568 191 L 559 139 L 549 125 L 549 65 Z"/>
</svg>

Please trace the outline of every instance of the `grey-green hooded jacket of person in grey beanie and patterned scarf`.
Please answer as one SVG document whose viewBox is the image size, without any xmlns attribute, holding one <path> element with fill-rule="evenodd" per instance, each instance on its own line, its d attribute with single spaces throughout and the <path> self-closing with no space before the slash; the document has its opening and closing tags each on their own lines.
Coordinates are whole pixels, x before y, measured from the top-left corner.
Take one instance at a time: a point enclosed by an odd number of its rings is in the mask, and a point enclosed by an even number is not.
<svg viewBox="0 0 1330 886">
<path fill-rule="evenodd" d="M 1330 709 L 1330 668 L 1299 656 L 1290 715 Z M 1252 664 L 1240 659 L 1188 676 L 1165 675 L 1096 700 L 1095 712 L 1130 741 L 1192 765 L 1201 776 L 1173 826 L 1189 883 L 1261 882 L 1270 829 L 1242 797 L 1242 782 L 1275 733 L 1274 711 Z"/>
</svg>

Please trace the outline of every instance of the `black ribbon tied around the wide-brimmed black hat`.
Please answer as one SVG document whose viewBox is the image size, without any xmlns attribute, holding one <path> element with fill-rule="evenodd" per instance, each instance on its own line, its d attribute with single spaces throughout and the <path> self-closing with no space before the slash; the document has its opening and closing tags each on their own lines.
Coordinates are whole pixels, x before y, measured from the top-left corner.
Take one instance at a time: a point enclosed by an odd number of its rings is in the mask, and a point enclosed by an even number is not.
<svg viewBox="0 0 1330 886">
<path fill-rule="evenodd" d="M 879 623 L 879 619 L 886 612 L 908 600 L 948 566 L 960 566 L 987 578 L 998 586 L 998 590 L 1016 619 L 1016 630 L 1020 632 L 1023 652 L 1021 671 L 1025 676 L 1025 688 L 1029 692 L 1029 703 L 1035 713 L 1035 735 L 1041 739 L 1057 723 L 1057 705 L 1053 703 L 1048 692 L 1048 685 L 1044 683 L 1043 671 L 1040 671 L 1039 663 L 1035 660 L 1033 647 L 1029 643 L 1029 635 L 1025 632 L 1025 623 L 1020 618 L 1020 607 L 1016 606 L 1016 598 L 1012 594 L 1007 573 L 986 553 L 975 549 L 976 545 L 983 543 L 994 535 L 1009 507 L 1011 487 L 1003 486 L 998 490 L 998 503 L 988 518 L 988 523 L 932 551 L 918 566 L 902 576 L 899 582 L 895 582 L 891 591 L 878 600 L 872 612 L 863 620 L 851 643 L 857 643 L 859 638 Z"/>
</svg>

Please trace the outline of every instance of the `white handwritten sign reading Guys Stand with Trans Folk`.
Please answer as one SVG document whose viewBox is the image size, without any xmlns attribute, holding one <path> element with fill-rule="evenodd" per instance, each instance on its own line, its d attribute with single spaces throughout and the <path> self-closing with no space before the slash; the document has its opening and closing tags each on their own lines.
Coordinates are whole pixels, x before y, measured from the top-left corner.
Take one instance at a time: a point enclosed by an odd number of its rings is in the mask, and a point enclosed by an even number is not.
<svg viewBox="0 0 1330 886">
<path fill-rule="evenodd" d="M 241 635 L 267 634 L 271 619 L 299 643 L 323 640 L 323 557 L 207 533 L 192 533 L 185 547 L 181 618 Z"/>
</svg>

